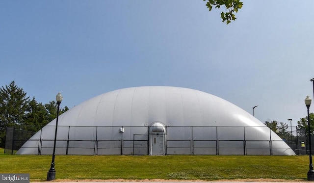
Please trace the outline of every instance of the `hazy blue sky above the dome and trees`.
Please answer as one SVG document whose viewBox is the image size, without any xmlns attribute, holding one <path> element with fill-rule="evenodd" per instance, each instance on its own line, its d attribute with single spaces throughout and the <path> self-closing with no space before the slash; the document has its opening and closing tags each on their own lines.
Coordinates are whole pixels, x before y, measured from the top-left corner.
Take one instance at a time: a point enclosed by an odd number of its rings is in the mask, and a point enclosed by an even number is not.
<svg viewBox="0 0 314 183">
<path fill-rule="evenodd" d="M 292 126 L 313 97 L 313 0 L 243 0 L 221 22 L 203 0 L 1 0 L 0 86 L 70 108 L 112 90 L 180 86 Z M 310 108 L 314 112 L 314 105 Z"/>
</svg>

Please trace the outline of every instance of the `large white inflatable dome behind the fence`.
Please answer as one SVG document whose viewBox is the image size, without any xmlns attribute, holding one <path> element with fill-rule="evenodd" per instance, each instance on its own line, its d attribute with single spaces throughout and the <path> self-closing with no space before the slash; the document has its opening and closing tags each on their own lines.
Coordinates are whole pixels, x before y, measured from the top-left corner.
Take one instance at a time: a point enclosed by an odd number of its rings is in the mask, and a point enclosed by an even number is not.
<svg viewBox="0 0 314 183">
<path fill-rule="evenodd" d="M 52 154 L 56 119 L 17 154 Z M 58 118 L 56 154 L 295 155 L 248 112 L 211 94 L 168 86 L 111 91 Z"/>
</svg>

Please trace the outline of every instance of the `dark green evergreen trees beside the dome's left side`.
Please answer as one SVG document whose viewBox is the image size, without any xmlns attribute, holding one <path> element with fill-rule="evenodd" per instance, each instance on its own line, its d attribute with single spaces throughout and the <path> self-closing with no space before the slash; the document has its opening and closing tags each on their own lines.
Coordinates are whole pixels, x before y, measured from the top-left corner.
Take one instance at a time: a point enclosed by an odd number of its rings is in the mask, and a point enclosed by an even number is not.
<svg viewBox="0 0 314 183">
<path fill-rule="evenodd" d="M 57 104 L 50 101 L 47 104 L 38 103 L 35 97 L 27 96 L 23 88 L 15 81 L 0 88 L 0 147 L 5 145 L 7 127 L 25 131 L 39 131 L 56 118 Z M 59 114 L 69 110 L 68 106 L 60 107 Z"/>
</svg>

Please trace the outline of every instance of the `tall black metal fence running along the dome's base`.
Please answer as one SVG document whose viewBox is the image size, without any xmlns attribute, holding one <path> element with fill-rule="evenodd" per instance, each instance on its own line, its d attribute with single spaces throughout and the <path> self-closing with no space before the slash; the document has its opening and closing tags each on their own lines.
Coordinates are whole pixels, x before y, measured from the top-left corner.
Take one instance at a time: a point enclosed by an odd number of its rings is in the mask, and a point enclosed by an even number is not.
<svg viewBox="0 0 314 183">
<path fill-rule="evenodd" d="M 52 127 L 54 128 L 54 127 Z M 59 128 L 59 127 L 58 127 Z M 84 127 L 88 131 L 94 132 L 94 137 L 90 139 L 71 139 L 78 128 L 74 126 L 62 126 L 63 134 L 66 138 L 57 138 L 55 154 L 59 155 L 148 155 L 149 135 L 144 133 L 148 127 Z M 109 139 L 109 133 L 115 128 L 126 128 L 128 131 L 143 132 L 144 134 L 119 135 L 117 139 Z M 137 129 L 139 128 L 139 130 Z M 274 155 L 273 144 L 276 140 L 245 139 L 247 133 L 254 129 L 250 127 L 233 127 L 234 133 L 239 133 L 242 139 L 228 139 L 221 133 L 230 131 L 231 127 L 167 127 L 166 133 L 166 155 Z M 268 129 L 268 128 L 267 128 Z M 265 130 L 267 130 L 265 129 Z M 59 129 L 58 129 L 59 130 Z M 31 137 L 33 133 L 19 131 L 8 128 L 7 141 L 5 147 L 6 154 L 15 154 L 21 146 Z M 183 131 L 183 132 L 182 132 Z M 202 134 L 197 131 L 202 131 Z M 269 135 L 270 135 L 270 130 Z M 86 132 L 86 131 L 85 131 Z M 172 135 L 182 132 L 182 136 Z M 39 131 L 41 133 L 41 131 Z M 22 134 L 22 135 L 21 135 Z M 27 134 L 27 135 L 26 135 Z M 188 134 L 188 135 L 184 135 Z M 204 135 L 205 134 L 205 135 Z M 241 135 L 242 134 L 242 135 Z M 285 142 L 297 155 L 305 155 L 306 142 L 303 129 L 291 131 L 291 136 Z M 248 136 L 248 135 L 247 135 Z M 291 137 L 291 138 L 290 138 Z M 271 139 L 271 137 L 270 137 Z M 38 155 L 51 155 L 53 139 L 31 139 L 35 142 L 32 147 L 38 151 Z M 303 143 L 303 144 L 302 144 Z M 261 148 L 260 144 L 263 144 Z"/>
</svg>

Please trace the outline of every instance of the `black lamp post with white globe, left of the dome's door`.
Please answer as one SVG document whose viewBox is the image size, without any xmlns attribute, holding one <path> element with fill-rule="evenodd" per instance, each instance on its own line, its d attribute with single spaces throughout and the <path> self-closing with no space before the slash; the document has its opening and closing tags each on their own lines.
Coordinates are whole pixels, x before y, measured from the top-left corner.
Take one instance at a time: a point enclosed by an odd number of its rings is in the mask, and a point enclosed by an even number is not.
<svg viewBox="0 0 314 183">
<path fill-rule="evenodd" d="M 56 96 L 55 96 L 55 100 L 57 101 L 57 119 L 55 122 L 55 133 L 54 133 L 54 143 L 53 143 L 53 153 L 52 153 L 52 162 L 51 162 L 51 167 L 47 173 L 47 181 L 52 181 L 55 179 L 55 169 L 54 169 L 54 153 L 55 153 L 55 142 L 56 142 L 56 137 L 57 137 L 57 128 L 58 128 L 58 117 L 59 117 L 59 107 L 61 104 L 63 97 L 61 95 L 61 93 L 59 92 Z"/>
</svg>

